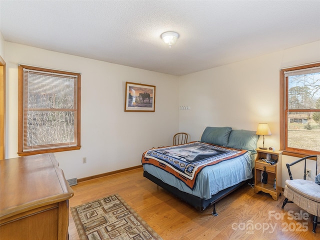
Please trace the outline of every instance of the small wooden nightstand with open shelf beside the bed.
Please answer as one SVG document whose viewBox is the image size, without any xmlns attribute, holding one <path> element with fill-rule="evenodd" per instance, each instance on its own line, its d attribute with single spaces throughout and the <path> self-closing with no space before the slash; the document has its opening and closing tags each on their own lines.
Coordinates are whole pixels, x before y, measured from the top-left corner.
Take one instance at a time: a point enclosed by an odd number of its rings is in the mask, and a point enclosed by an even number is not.
<svg viewBox="0 0 320 240">
<path fill-rule="evenodd" d="M 269 155 L 268 155 L 269 154 Z M 265 162 L 268 159 L 276 161 L 274 164 Z M 256 158 L 254 161 L 254 192 L 263 191 L 269 193 L 274 200 L 278 199 L 281 193 L 281 156 L 282 151 L 271 151 L 267 149 L 256 149 Z M 263 160 L 264 159 L 264 160 Z M 267 183 L 262 183 L 262 172 L 267 173 Z M 275 179 L 275 189 L 274 189 Z"/>
</svg>

